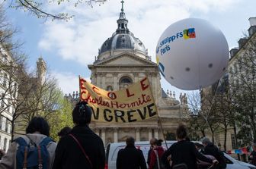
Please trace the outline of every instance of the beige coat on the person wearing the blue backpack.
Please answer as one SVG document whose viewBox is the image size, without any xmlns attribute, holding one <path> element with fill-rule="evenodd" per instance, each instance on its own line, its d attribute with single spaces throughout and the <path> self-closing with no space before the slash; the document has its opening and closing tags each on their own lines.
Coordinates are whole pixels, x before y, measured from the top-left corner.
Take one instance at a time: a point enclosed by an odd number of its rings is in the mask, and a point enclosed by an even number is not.
<svg viewBox="0 0 256 169">
<path fill-rule="evenodd" d="M 27 136 L 30 137 L 30 139 L 35 142 L 37 145 L 41 142 L 42 139 L 44 139 L 46 136 L 43 134 L 33 133 L 33 134 L 27 134 Z M 26 140 L 26 142 L 30 142 L 27 136 L 21 136 Z M 54 161 L 54 152 L 56 149 L 56 142 L 50 142 L 46 148 L 50 155 L 50 163 L 47 168 L 51 169 L 53 167 L 53 161 Z M 0 169 L 16 169 L 16 150 L 18 149 L 18 143 L 12 142 L 10 148 L 8 149 L 8 152 L 5 156 L 2 157 L 2 160 L 0 161 Z"/>
</svg>

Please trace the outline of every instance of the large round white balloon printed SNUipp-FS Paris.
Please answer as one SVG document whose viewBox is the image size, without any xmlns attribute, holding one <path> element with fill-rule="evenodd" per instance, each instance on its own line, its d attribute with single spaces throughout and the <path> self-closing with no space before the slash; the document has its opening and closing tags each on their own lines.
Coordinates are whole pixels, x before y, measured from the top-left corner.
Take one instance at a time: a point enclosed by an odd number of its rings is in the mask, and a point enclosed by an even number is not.
<svg viewBox="0 0 256 169">
<path fill-rule="evenodd" d="M 188 18 L 171 24 L 158 40 L 160 72 L 179 89 L 200 89 L 222 77 L 229 61 L 223 33 L 206 20 Z"/>
</svg>

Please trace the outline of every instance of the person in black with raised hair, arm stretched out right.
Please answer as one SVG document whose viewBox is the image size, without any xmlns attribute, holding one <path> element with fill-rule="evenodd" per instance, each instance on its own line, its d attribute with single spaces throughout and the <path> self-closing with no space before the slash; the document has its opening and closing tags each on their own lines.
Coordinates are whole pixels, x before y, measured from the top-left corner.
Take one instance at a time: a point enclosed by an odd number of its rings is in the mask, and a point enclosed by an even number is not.
<svg viewBox="0 0 256 169">
<path fill-rule="evenodd" d="M 197 158 L 201 161 L 206 161 L 210 164 L 217 163 L 216 160 L 206 158 L 197 151 L 193 142 L 187 141 L 187 129 L 183 124 L 180 124 L 176 130 L 176 137 L 178 142 L 175 142 L 171 147 L 162 155 L 162 163 L 165 168 L 173 168 L 175 165 L 187 166 L 187 169 L 197 169 Z M 168 163 L 168 156 L 171 155 L 171 167 Z"/>
</svg>

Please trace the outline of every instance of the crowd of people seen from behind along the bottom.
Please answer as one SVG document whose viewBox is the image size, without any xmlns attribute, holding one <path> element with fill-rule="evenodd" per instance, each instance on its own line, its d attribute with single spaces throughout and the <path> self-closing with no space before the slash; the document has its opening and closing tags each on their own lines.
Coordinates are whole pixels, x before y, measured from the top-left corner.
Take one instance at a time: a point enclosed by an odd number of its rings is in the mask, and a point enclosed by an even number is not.
<svg viewBox="0 0 256 169">
<path fill-rule="evenodd" d="M 8 152 L 0 150 L 1 169 L 104 169 L 105 149 L 101 138 L 88 124 L 91 108 L 87 102 L 78 102 L 72 111 L 75 127 L 59 131 L 58 144 L 50 139 L 50 126 L 43 117 L 34 117 L 26 129 L 26 135 L 14 139 Z M 147 161 L 140 149 L 136 149 L 133 137 L 126 139 L 126 147 L 117 153 L 117 169 L 225 169 L 226 161 L 210 139 L 190 142 L 187 129 L 179 125 L 176 130 L 178 142 L 168 149 L 162 139 L 150 139 Z M 256 164 L 256 144 L 249 158 Z"/>
</svg>

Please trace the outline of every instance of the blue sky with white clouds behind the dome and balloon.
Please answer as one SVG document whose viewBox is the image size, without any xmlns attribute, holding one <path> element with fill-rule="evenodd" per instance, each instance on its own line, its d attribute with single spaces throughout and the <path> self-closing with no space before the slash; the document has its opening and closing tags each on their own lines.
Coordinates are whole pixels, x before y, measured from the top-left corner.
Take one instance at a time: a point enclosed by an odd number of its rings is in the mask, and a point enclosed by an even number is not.
<svg viewBox="0 0 256 169">
<path fill-rule="evenodd" d="M 124 12 L 129 20 L 128 28 L 139 38 L 152 61 L 155 62 L 155 46 L 162 32 L 175 21 L 197 17 L 209 20 L 226 36 L 229 49 L 238 46 L 237 41 L 247 33 L 249 17 L 256 17 L 255 0 L 126 0 Z M 18 39 L 25 42 L 30 67 L 36 66 L 40 56 L 56 76 L 64 93 L 78 90 L 78 75 L 89 78 L 94 56 L 103 42 L 117 29 L 120 0 L 108 0 L 103 5 L 86 4 L 74 7 L 69 3 L 50 5 L 48 11 L 74 14 L 68 22 L 40 20 L 34 16 L 7 9 L 8 19 L 21 30 Z M 162 78 L 162 87 L 180 90 Z"/>
</svg>

